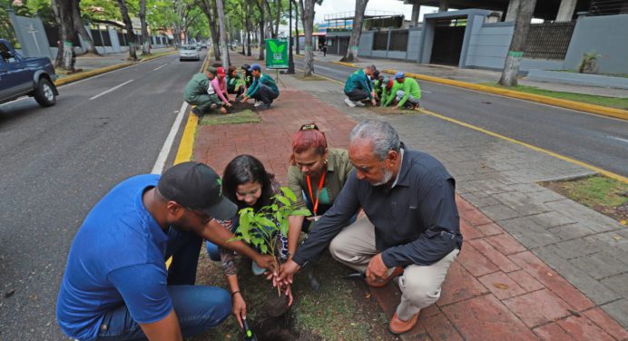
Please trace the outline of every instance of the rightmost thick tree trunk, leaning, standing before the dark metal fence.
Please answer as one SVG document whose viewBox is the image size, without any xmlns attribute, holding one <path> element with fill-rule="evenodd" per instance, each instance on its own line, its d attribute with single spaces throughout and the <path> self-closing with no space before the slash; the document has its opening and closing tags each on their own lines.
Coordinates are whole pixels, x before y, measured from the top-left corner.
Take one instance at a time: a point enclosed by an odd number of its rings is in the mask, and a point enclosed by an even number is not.
<svg viewBox="0 0 628 341">
<path fill-rule="evenodd" d="M 499 79 L 499 83 L 503 86 L 516 86 L 517 84 L 516 75 L 519 73 L 519 66 L 524 57 L 525 40 L 530 29 L 532 15 L 535 13 L 535 5 L 536 0 L 520 1 L 517 5 L 515 32 L 505 57 L 502 76 Z"/>
</svg>

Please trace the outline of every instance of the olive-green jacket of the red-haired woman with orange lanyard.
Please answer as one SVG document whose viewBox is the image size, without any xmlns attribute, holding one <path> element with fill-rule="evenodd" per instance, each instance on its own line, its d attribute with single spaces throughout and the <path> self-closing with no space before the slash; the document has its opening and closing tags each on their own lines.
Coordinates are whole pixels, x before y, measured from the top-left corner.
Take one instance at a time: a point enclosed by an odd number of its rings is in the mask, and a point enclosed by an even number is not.
<svg viewBox="0 0 628 341">
<path fill-rule="evenodd" d="M 340 190 L 345 186 L 348 180 L 348 174 L 353 171 L 351 162 L 348 161 L 348 151 L 337 148 L 329 148 L 329 157 L 327 162 L 327 173 L 323 187 L 327 190 L 329 197 L 329 205 L 333 204 L 340 194 Z M 318 190 L 318 183 L 312 183 L 312 190 Z M 290 165 L 288 168 L 288 187 L 297 196 L 295 208 L 305 208 L 305 200 L 300 194 L 305 192 L 309 197 L 308 180 L 299 167 Z M 317 193 L 312 193 L 316 197 Z M 321 203 L 323 203 L 321 201 Z M 313 212 L 312 212 L 313 213 Z"/>
</svg>

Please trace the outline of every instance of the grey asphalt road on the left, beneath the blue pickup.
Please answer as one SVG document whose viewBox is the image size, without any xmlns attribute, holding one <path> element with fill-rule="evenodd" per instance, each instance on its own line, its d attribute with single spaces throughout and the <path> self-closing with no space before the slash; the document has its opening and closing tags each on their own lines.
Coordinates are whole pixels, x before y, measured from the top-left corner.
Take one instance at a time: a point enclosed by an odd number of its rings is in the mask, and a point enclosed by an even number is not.
<svg viewBox="0 0 628 341">
<path fill-rule="evenodd" d="M 115 184 L 152 171 L 201 63 L 168 55 L 61 87 L 54 107 L 0 106 L 0 340 L 67 340 L 54 309 L 74 234 Z"/>
</svg>

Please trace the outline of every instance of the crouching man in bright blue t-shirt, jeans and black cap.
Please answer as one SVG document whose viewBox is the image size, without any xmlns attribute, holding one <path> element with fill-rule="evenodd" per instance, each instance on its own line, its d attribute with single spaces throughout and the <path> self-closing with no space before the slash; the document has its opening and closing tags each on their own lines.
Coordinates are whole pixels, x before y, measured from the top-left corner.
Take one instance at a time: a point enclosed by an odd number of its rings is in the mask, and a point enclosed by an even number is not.
<svg viewBox="0 0 628 341">
<path fill-rule="evenodd" d="M 138 175 L 113 188 L 76 233 L 59 290 L 56 315 L 79 340 L 182 340 L 218 326 L 231 311 L 219 287 L 194 286 L 202 239 L 271 268 L 226 229 L 236 206 L 221 194 L 221 179 L 200 162 Z M 165 260 L 172 257 L 170 268 Z"/>
</svg>

